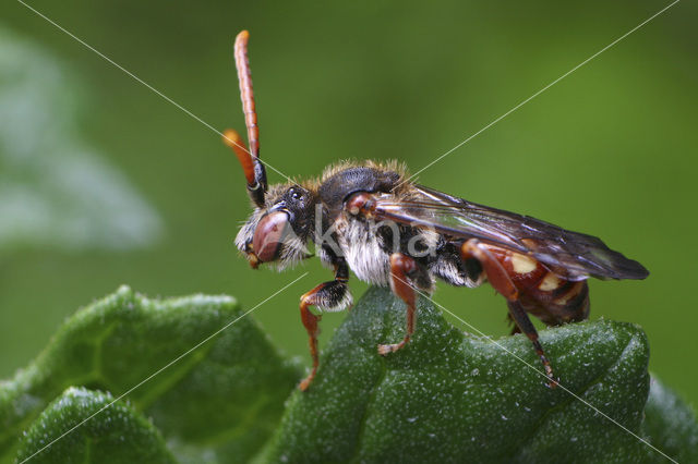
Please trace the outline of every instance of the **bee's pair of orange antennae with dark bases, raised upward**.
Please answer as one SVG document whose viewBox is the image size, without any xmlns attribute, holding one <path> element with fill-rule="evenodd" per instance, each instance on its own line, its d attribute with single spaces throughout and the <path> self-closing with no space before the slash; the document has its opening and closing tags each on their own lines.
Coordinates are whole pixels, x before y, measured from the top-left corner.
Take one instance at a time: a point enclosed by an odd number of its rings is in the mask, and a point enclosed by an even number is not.
<svg viewBox="0 0 698 464">
<path fill-rule="evenodd" d="M 234 56 L 236 68 L 238 69 L 238 81 L 240 81 L 240 99 L 242 100 L 242 111 L 244 123 L 248 126 L 248 141 L 250 150 L 244 147 L 240 135 L 232 130 L 224 133 L 224 142 L 231 147 L 248 180 L 248 192 L 250 197 L 258 207 L 264 206 L 264 193 L 267 190 L 266 171 L 260 160 L 260 127 L 257 126 L 257 113 L 254 108 L 254 91 L 252 90 L 252 76 L 250 73 L 250 61 L 248 60 L 248 40 L 250 33 L 242 30 L 236 38 Z"/>
</svg>

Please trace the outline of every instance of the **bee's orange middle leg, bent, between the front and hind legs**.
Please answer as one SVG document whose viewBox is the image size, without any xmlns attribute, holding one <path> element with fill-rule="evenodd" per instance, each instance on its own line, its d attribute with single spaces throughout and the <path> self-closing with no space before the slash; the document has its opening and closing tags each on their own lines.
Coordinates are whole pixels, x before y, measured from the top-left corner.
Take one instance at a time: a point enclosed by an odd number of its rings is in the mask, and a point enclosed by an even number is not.
<svg viewBox="0 0 698 464">
<path fill-rule="evenodd" d="M 390 290 L 407 305 L 407 331 L 405 338 L 399 343 L 378 345 L 378 354 L 386 355 L 394 353 L 409 343 L 414 333 L 414 322 L 417 319 L 417 288 L 431 290 L 431 279 L 426 270 L 413 258 L 402 254 L 390 255 Z"/>
</svg>

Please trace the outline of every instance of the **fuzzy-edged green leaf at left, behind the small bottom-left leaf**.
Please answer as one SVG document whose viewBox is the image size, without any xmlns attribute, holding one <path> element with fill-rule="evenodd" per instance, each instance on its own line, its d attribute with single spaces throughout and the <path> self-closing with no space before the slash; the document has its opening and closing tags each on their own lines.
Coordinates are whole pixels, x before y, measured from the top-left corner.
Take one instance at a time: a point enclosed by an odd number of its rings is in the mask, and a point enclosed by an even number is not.
<svg viewBox="0 0 698 464">
<path fill-rule="evenodd" d="M 127 286 L 81 309 L 32 365 L 0 383 L 0 462 L 14 455 L 21 432 L 68 387 L 119 396 L 242 315 L 227 296 L 158 301 Z M 277 426 L 299 377 L 245 316 L 128 400 L 184 461 L 243 461 Z"/>
</svg>

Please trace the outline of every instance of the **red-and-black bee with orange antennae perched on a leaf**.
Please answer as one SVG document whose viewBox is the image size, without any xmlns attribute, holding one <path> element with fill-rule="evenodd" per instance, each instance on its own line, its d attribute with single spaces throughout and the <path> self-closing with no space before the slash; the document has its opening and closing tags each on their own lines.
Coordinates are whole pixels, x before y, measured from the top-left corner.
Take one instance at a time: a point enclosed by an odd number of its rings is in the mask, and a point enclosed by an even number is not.
<svg viewBox="0 0 698 464">
<path fill-rule="evenodd" d="M 430 294 L 437 280 L 476 288 L 489 282 L 506 300 L 513 332 L 525 333 L 540 357 L 546 384 L 555 387 L 551 363 L 529 314 L 546 326 L 589 317 L 587 279 L 645 279 L 639 262 L 610 249 L 600 239 L 571 232 L 529 216 L 478 205 L 419 185 L 397 162 L 341 162 L 320 180 L 267 185 L 248 60 L 249 33 L 234 45 L 249 149 L 232 130 L 224 142 L 236 152 L 254 211 L 236 237 L 253 268 L 286 269 L 313 256 L 313 242 L 334 279 L 300 298 L 313 365 L 318 366 L 321 316 L 352 305 L 349 271 L 362 281 L 389 286 L 407 308 L 406 331 L 396 343 L 380 344 L 388 355 L 409 343 L 416 328 L 418 292 Z"/>
</svg>

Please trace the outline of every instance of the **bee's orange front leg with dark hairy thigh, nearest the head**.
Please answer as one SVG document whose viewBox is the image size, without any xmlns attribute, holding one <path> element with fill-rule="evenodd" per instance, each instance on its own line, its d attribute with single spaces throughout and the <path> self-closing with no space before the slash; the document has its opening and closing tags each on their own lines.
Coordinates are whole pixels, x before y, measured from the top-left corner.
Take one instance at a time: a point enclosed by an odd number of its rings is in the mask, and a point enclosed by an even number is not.
<svg viewBox="0 0 698 464">
<path fill-rule="evenodd" d="M 310 345 L 310 355 L 313 358 L 313 368 L 305 377 L 299 388 L 303 391 L 308 390 L 310 383 L 315 378 L 317 366 L 320 365 L 320 355 L 317 353 L 317 334 L 320 328 L 317 322 L 320 315 L 311 313 L 310 306 L 315 306 L 321 310 L 338 312 L 348 308 L 352 304 L 351 293 L 347 286 L 348 269 L 344 269 L 346 265 L 338 266 L 335 272 L 335 280 L 324 282 L 301 296 L 301 320 L 308 331 L 308 342 Z"/>
</svg>

